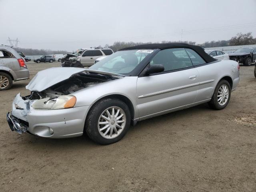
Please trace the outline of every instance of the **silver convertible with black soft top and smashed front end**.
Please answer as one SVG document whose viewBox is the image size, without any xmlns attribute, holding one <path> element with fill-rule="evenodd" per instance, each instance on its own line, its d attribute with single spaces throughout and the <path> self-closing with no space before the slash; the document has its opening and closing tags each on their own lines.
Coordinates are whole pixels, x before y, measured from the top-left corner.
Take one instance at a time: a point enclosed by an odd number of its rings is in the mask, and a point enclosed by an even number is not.
<svg viewBox="0 0 256 192">
<path fill-rule="evenodd" d="M 12 131 L 46 138 L 87 134 L 99 144 L 120 140 L 130 124 L 208 102 L 225 108 L 239 82 L 239 65 L 199 46 L 145 44 L 119 50 L 88 69 L 49 68 L 17 94 Z"/>
</svg>

